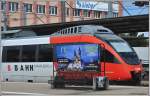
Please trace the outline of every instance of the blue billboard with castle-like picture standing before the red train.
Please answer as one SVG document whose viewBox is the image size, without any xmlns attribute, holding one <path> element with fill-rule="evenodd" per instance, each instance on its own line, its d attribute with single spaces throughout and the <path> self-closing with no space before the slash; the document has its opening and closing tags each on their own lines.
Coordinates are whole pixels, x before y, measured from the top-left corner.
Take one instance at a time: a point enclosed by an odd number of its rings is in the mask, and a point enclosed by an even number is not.
<svg viewBox="0 0 150 96">
<path fill-rule="evenodd" d="M 97 71 L 100 60 L 97 44 L 57 45 L 55 57 L 58 70 Z"/>
</svg>

